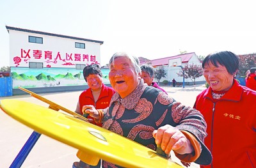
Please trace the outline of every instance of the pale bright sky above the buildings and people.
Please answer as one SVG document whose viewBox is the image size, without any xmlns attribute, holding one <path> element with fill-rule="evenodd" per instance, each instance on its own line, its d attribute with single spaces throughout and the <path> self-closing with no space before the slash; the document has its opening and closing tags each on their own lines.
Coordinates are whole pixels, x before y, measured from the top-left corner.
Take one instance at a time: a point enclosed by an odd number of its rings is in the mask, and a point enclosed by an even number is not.
<svg viewBox="0 0 256 168">
<path fill-rule="evenodd" d="M 253 1 L 0 0 L 0 67 L 9 65 L 7 26 L 103 41 L 115 52 L 156 59 L 181 51 L 256 53 Z"/>
</svg>

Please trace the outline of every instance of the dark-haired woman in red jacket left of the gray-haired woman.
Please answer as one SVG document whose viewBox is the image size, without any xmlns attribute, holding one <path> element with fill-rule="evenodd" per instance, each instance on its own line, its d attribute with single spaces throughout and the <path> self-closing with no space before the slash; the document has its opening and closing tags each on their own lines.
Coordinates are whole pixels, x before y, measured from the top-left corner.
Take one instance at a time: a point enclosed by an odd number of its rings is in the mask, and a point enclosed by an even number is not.
<svg viewBox="0 0 256 168">
<path fill-rule="evenodd" d="M 103 84 L 100 66 L 97 64 L 85 66 L 83 76 L 89 88 L 83 91 L 79 96 L 75 112 L 83 115 L 82 109 L 84 105 L 93 105 L 93 107 L 97 109 L 108 107 L 115 90 Z M 87 118 L 90 120 L 90 123 L 102 126 L 102 123 L 95 123 L 91 116 L 87 116 Z M 96 166 L 85 164 L 82 161 L 74 162 L 73 164 L 73 168 L 84 167 L 100 167 L 100 162 Z"/>
</svg>

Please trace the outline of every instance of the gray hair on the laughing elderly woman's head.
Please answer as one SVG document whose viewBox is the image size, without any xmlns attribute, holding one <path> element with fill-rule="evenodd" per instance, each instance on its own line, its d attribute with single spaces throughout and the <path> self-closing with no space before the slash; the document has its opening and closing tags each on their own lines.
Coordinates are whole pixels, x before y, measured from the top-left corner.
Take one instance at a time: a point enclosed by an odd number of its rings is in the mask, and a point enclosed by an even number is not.
<svg viewBox="0 0 256 168">
<path fill-rule="evenodd" d="M 140 68 L 140 61 L 137 57 L 135 56 L 131 56 L 129 54 L 127 54 L 126 52 L 116 52 L 109 60 L 109 66 L 111 65 L 111 63 L 113 63 L 114 59 L 116 59 L 117 57 L 127 57 L 131 63 L 132 63 L 132 66 L 135 70 L 135 72 L 137 74 L 140 74 L 141 73 L 141 68 Z"/>
</svg>

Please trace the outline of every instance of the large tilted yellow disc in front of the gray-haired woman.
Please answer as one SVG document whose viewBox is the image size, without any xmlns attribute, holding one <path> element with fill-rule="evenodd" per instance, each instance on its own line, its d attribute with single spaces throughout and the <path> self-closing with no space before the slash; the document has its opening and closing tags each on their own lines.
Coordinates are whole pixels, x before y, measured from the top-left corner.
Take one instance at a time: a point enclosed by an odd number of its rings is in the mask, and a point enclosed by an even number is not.
<svg viewBox="0 0 256 168">
<path fill-rule="evenodd" d="M 1 100 L 0 107 L 36 132 L 79 149 L 77 154 L 123 167 L 182 167 L 137 142 L 47 107 L 12 99 Z"/>
</svg>

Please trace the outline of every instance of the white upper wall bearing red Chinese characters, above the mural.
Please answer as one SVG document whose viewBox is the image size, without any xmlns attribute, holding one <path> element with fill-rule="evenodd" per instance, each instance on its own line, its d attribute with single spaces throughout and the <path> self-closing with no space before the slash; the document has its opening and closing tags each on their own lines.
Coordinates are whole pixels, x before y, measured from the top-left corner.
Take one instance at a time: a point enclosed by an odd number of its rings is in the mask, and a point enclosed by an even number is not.
<svg viewBox="0 0 256 168">
<path fill-rule="evenodd" d="M 86 42 L 83 40 L 73 40 L 44 34 L 27 33 L 24 31 L 9 30 L 10 34 L 10 66 L 28 67 L 29 62 L 44 63 L 44 67 L 52 68 L 75 68 L 76 64 L 90 65 L 92 63 L 100 64 L 100 43 Z M 28 36 L 43 38 L 43 43 L 29 43 Z M 85 49 L 75 48 L 75 42 L 85 43 Z M 26 57 L 25 52 L 29 52 Z M 36 59 L 33 54 L 34 50 L 42 51 L 42 57 Z M 51 58 L 45 58 L 45 52 L 52 52 Z M 60 57 L 58 56 L 60 54 Z M 23 54 L 23 56 L 22 56 Z M 81 60 L 76 60 L 75 54 Z M 88 55 L 89 60 L 83 60 L 83 55 Z M 95 56 L 95 60 L 90 57 Z M 13 60 L 15 58 L 15 60 Z M 70 59 L 72 58 L 72 59 Z M 20 62 L 19 62 L 20 61 Z"/>
</svg>

